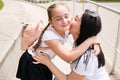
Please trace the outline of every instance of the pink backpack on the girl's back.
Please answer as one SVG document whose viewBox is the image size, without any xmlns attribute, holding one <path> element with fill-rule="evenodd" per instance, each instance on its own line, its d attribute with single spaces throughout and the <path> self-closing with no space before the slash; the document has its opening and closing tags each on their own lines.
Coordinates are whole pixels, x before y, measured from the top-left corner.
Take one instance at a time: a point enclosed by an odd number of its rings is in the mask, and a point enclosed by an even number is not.
<svg viewBox="0 0 120 80">
<path fill-rule="evenodd" d="M 27 50 L 39 38 L 43 30 L 43 23 L 40 21 L 36 26 L 30 23 L 23 23 L 21 31 L 21 50 Z"/>
</svg>

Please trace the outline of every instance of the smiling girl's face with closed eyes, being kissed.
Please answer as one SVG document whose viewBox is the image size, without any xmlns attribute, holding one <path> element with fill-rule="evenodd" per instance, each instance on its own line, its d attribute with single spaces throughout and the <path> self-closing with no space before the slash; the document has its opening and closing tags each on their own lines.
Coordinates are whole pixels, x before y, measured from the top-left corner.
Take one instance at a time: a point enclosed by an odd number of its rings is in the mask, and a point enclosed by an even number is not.
<svg viewBox="0 0 120 80">
<path fill-rule="evenodd" d="M 49 22 L 59 34 L 64 34 L 71 25 L 69 10 L 65 6 L 57 6 L 52 10 L 52 20 L 49 20 Z"/>
</svg>

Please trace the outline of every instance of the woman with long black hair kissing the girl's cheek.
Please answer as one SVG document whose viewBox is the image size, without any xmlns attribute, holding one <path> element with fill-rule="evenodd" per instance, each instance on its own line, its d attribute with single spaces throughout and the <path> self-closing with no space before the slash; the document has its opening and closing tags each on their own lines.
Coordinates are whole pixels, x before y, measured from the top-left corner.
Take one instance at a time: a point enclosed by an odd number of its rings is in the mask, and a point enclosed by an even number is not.
<svg viewBox="0 0 120 80">
<path fill-rule="evenodd" d="M 75 17 L 71 27 L 71 32 L 77 33 L 74 36 L 75 46 L 79 46 L 87 38 L 97 35 L 101 31 L 101 20 L 99 15 L 90 10 L 86 10 L 83 15 Z M 80 30 L 80 33 L 78 33 Z M 68 76 L 62 73 L 49 59 L 47 54 L 38 54 L 33 57 L 35 64 L 45 64 L 53 72 L 57 80 L 110 80 L 104 69 L 105 59 L 102 50 L 95 56 L 92 53 L 93 46 L 85 51 L 78 59 L 71 63 L 71 72 Z"/>
</svg>

